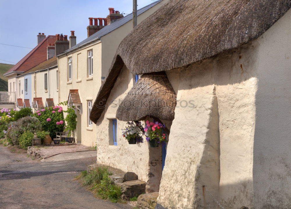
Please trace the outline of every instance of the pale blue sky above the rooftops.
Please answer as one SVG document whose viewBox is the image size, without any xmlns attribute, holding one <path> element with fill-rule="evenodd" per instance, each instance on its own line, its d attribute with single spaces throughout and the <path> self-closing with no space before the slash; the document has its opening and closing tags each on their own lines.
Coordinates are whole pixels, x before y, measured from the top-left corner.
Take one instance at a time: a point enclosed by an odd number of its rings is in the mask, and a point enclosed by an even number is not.
<svg viewBox="0 0 291 209">
<path fill-rule="evenodd" d="M 153 1 L 137 0 L 138 9 Z M 106 17 L 109 7 L 129 14 L 132 0 L 0 0 L 0 63 L 17 63 L 31 50 L 2 44 L 34 48 L 38 33 L 70 36 L 72 30 L 81 42 L 87 38 L 88 17 Z"/>
</svg>

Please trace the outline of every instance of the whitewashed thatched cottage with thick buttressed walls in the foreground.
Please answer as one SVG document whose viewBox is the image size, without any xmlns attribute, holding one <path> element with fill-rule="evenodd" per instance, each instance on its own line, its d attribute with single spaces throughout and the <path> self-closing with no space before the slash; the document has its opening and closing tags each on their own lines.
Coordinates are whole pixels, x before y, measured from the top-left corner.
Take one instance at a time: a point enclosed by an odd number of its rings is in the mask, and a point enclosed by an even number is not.
<svg viewBox="0 0 291 209">
<path fill-rule="evenodd" d="M 219 208 L 205 185 L 224 208 L 291 208 L 290 7 L 170 0 L 145 19 L 93 105 L 97 162 L 135 172 L 157 209 Z M 165 158 L 122 137 L 126 121 L 149 118 L 170 131 Z"/>
</svg>

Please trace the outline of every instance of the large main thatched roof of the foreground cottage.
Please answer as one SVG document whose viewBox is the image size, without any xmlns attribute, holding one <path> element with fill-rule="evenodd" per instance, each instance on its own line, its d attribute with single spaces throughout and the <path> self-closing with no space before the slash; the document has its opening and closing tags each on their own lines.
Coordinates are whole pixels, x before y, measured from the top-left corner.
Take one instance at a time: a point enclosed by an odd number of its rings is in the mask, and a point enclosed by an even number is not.
<svg viewBox="0 0 291 209">
<path fill-rule="evenodd" d="M 290 7 L 290 0 L 170 0 L 120 43 L 94 104 L 107 100 L 123 64 L 132 74 L 189 65 L 259 37 Z M 96 105 L 94 123 L 103 111 Z"/>
</svg>

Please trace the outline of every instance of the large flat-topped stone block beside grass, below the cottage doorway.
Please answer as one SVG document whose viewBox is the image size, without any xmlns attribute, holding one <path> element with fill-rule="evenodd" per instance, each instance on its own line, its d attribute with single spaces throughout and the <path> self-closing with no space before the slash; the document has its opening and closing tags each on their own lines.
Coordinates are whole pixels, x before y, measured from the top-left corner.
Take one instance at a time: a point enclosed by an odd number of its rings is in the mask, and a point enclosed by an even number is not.
<svg viewBox="0 0 291 209">
<path fill-rule="evenodd" d="M 116 185 L 120 186 L 122 198 L 129 199 L 145 193 L 146 183 L 141 180 L 125 181 L 123 183 L 116 183 Z"/>
</svg>

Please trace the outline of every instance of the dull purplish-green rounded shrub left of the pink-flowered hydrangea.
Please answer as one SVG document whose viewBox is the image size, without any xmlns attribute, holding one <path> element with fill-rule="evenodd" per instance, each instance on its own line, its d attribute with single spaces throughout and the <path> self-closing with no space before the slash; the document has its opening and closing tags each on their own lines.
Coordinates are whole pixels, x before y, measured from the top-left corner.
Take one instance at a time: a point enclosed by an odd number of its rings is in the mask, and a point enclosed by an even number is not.
<svg viewBox="0 0 291 209">
<path fill-rule="evenodd" d="M 36 117 L 23 117 L 18 121 L 11 122 L 7 138 L 11 139 L 12 144 L 19 144 L 18 138 L 26 131 L 31 133 L 42 131 L 40 121 Z"/>
</svg>

